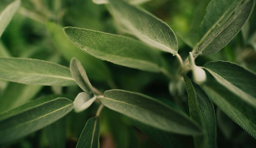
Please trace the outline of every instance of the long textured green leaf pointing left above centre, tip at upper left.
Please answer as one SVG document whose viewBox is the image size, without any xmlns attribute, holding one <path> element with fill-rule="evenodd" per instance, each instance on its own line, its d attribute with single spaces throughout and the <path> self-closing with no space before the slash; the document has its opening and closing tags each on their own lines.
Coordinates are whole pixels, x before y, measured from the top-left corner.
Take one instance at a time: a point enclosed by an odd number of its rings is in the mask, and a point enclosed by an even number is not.
<svg viewBox="0 0 256 148">
<path fill-rule="evenodd" d="M 135 39 L 75 27 L 65 27 L 64 31 L 74 44 L 96 58 L 126 67 L 159 72 L 160 55 Z"/>
</svg>

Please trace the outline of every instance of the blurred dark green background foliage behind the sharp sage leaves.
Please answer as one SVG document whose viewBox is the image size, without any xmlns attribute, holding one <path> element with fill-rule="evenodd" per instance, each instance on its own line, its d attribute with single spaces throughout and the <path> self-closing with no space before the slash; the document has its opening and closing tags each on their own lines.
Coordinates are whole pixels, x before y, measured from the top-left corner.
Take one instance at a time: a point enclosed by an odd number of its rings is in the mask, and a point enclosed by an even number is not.
<svg viewBox="0 0 256 148">
<path fill-rule="evenodd" d="M 187 38 L 193 37 L 193 32 L 199 30 L 210 0 L 147 1 L 140 6 L 171 26 L 178 38 L 179 53 L 185 58 L 192 49 Z M 140 92 L 188 113 L 187 95 L 183 84 L 171 82 L 179 87 L 173 89 L 170 84 L 169 90 L 169 81 L 162 74 L 142 72 L 98 60 L 69 44 L 62 32 L 64 26 L 126 35 L 115 25 L 108 8 L 105 5 L 96 5 L 92 0 L 22 0 L 21 8 L 0 38 L 0 56 L 36 58 L 65 66 L 69 66 L 70 59 L 76 56 L 83 63 L 92 85 L 99 90 L 118 88 Z M 248 42 L 253 35 L 256 36 L 255 34 L 256 9 L 242 31 L 224 49 L 213 55 L 200 56 L 197 58 L 197 65 L 203 65 L 211 60 L 228 60 L 256 72 L 256 49 Z M 176 59 L 169 53 L 161 54 L 168 60 L 168 66 L 172 67 L 172 72 L 175 72 L 173 69 L 178 65 Z M 69 96 L 69 99 L 74 99 L 81 91 L 78 86 L 42 87 L 0 81 L 0 112 L 13 109 L 29 99 L 45 95 L 62 94 Z M 6 99 L 11 99 L 13 103 L 8 104 L 9 101 Z M 175 105 L 177 103 L 179 106 Z M 71 112 L 56 123 L 7 147 L 74 148 L 86 121 L 95 115 L 96 109 L 97 104 L 93 104 L 82 113 Z M 233 123 L 217 107 L 216 116 L 218 147 L 255 148 L 255 139 Z M 133 127 L 130 120 L 119 113 L 104 108 L 101 118 L 100 146 L 102 148 L 161 147 Z M 191 136 L 185 136 L 183 140 L 186 147 L 193 147 Z"/>
</svg>

